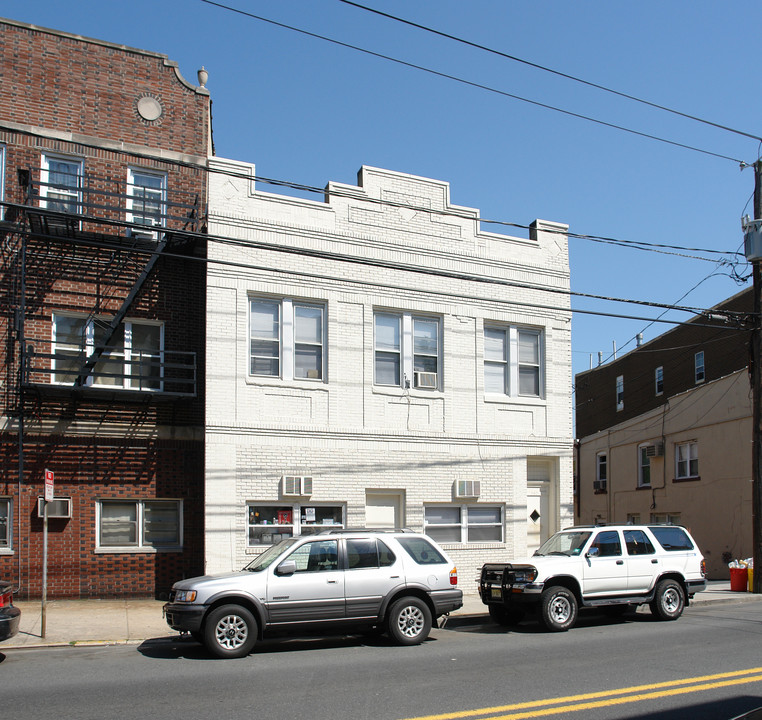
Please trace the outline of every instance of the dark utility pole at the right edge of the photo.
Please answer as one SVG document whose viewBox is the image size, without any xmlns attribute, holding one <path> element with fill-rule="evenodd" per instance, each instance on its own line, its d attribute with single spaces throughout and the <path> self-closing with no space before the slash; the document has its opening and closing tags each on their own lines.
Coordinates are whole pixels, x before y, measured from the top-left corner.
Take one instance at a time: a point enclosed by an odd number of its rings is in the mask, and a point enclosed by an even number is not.
<svg viewBox="0 0 762 720">
<path fill-rule="evenodd" d="M 762 221 L 762 160 L 754 163 L 754 229 Z M 754 329 L 751 333 L 752 463 L 751 517 L 754 579 L 752 592 L 762 592 L 762 259 L 750 258 L 754 282 Z"/>
</svg>

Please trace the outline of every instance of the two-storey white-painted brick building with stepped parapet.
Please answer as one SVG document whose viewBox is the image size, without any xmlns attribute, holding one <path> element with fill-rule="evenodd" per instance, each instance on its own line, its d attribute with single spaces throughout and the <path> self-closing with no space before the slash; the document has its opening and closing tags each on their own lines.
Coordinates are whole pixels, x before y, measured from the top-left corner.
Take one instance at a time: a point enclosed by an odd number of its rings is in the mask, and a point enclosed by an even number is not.
<svg viewBox="0 0 762 720">
<path fill-rule="evenodd" d="M 396 525 L 473 592 L 572 519 L 566 226 L 482 232 L 447 183 L 376 168 L 325 202 L 211 171 L 209 232 L 231 241 L 209 244 L 208 572 Z"/>
</svg>

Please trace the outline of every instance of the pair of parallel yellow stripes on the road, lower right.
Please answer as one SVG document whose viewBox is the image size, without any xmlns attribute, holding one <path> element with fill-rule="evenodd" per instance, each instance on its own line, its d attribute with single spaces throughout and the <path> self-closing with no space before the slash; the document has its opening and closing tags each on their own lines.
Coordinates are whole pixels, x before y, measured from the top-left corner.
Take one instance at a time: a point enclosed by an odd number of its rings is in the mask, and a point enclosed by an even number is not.
<svg viewBox="0 0 762 720">
<path fill-rule="evenodd" d="M 476 710 L 461 710 L 459 712 L 441 713 L 439 715 L 421 715 L 407 720 L 457 720 L 458 718 L 483 718 L 483 720 L 520 720 L 520 718 L 538 718 L 559 713 L 578 712 L 595 708 L 625 705 L 643 700 L 685 695 L 703 690 L 744 685 L 762 682 L 762 667 L 733 672 L 702 675 L 682 680 L 652 683 L 651 685 L 634 685 L 616 690 L 603 690 L 582 695 L 567 695 L 566 697 L 549 700 L 531 700 L 512 705 L 497 705 Z M 506 714 L 507 713 L 507 714 Z"/>
</svg>

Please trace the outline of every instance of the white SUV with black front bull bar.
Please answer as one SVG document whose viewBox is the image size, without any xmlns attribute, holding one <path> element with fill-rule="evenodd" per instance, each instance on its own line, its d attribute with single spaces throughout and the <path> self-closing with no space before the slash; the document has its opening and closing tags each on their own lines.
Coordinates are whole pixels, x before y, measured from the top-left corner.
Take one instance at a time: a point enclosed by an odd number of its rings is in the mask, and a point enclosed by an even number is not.
<svg viewBox="0 0 762 720">
<path fill-rule="evenodd" d="M 493 620 L 510 625 L 536 610 L 548 630 L 568 630 L 579 607 L 622 613 L 648 603 L 676 620 L 706 589 L 704 557 L 678 525 L 572 527 L 520 562 L 482 567 L 479 593 Z"/>
</svg>

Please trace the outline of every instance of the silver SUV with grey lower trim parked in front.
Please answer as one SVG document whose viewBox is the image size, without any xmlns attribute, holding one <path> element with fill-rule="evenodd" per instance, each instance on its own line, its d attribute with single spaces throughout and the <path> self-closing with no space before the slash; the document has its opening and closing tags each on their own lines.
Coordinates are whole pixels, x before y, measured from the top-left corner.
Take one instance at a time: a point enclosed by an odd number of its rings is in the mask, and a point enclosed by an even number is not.
<svg viewBox="0 0 762 720">
<path fill-rule="evenodd" d="M 417 645 L 457 610 L 458 574 L 429 537 L 408 531 L 327 530 L 282 540 L 241 572 L 182 580 L 164 616 L 218 657 L 248 655 L 270 631 L 376 628 Z"/>
</svg>

